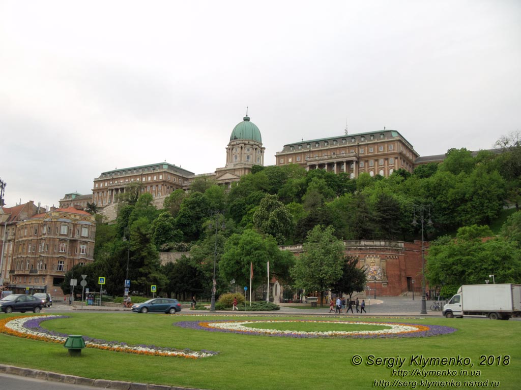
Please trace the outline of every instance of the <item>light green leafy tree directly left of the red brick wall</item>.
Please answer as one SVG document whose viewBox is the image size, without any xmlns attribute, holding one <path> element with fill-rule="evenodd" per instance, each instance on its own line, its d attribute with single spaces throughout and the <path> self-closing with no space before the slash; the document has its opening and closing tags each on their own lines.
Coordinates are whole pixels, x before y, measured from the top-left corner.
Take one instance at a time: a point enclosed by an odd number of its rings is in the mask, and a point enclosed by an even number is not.
<svg viewBox="0 0 521 390">
<path fill-rule="evenodd" d="M 295 259 L 290 273 L 297 289 L 319 291 L 329 290 L 342 276 L 344 245 L 333 235 L 330 226 L 317 225 L 311 230 L 303 244 L 303 253 Z M 321 302 L 323 300 L 321 299 Z"/>
</svg>

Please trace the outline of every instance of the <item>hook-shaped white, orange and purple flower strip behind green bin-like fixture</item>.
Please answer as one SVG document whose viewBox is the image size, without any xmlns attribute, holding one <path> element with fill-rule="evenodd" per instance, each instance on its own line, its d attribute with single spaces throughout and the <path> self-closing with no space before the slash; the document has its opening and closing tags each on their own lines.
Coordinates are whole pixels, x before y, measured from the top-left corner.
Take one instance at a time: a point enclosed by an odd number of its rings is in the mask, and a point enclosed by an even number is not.
<svg viewBox="0 0 521 390">
<path fill-rule="evenodd" d="M 68 318 L 67 316 L 20 316 L 0 320 L 0 333 L 31 340 L 48 341 L 52 343 L 65 343 L 68 334 L 53 332 L 40 327 L 40 323 L 57 318 Z M 187 359 L 200 359 L 217 355 L 218 352 L 201 350 L 200 352 L 190 349 L 175 349 L 168 347 L 156 347 L 154 345 L 128 345 L 117 341 L 105 341 L 82 336 L 87 348 L 105 349 L 116 352 L 126 352 L 139 355 L 153 356 L 177 356 Z"/>
</svg>

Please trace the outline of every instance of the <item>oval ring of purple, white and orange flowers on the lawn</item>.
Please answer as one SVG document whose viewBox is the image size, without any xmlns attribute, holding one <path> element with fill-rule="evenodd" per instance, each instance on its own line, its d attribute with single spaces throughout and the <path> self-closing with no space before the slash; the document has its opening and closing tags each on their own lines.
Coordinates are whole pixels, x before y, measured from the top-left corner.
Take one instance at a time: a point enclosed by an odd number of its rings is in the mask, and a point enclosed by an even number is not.
<svg viewBox="0 0 521 390">
<path fill-rule="evenodd" d="M 316 322 L 316 323 L 344 323 L 368 326 L 385 326 L 388 329 L 358 330 L 358 331 L 325 331 L 304 332 L 293 330 L 262 329 L 246 327 L 255 323 L 278 323 L 278 322 Z M 449 334 L 456 331 L 454 328 L 439 325 L 405 324 L 395 322 L 362 322 L 362 321 L 327 321 L 327 320 L 254 320 L 254 321 L 180 321 L 175 326 L 210 332 L 241 333 L 251 335 L 295 337 L 295 338 L 326 338 L 340 337 L 352 339 L 373 339 L 389 337 L 429 337 L 440 334 Z"/>
</svg>

